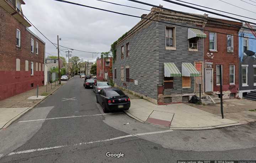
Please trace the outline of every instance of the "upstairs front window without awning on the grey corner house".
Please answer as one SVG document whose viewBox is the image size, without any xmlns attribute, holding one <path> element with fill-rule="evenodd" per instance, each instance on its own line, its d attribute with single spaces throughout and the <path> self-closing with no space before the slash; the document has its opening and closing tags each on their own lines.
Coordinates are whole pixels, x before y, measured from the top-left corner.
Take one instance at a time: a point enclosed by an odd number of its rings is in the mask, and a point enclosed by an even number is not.
<svg viewBox="0 0 256 163">
<path fill-rule="evenodd" d="M 175 27 L 165 27 L 166 49 L 175 49 Z"/>
</svg>

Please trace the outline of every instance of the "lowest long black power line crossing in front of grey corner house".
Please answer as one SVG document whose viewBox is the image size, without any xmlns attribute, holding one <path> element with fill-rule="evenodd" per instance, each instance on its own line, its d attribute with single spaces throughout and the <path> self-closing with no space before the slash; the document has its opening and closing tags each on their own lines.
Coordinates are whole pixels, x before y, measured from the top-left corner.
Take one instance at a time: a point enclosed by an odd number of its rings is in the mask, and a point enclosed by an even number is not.
<svg viewBox="0 0 256 163">
<path fill-rule="evenodd" d="M 155 21 L 155 22 L 160 22 L 160 23 L 166 23 L 166 24 L 171 24 L 171 25 L 180 26 L 180 27 L 191 28 L 191 27 L 189 27 L 189 26 L 184 26 L 184 25 L 180 25 L 180 24 L 174 24 L 174 23 L 169 23 L 169 22 L 163 22 L 163 21 L 158 21 L 158 20 L 154 20 L 154 19 L 150 19 L 150 18 L 135 16 L 135 15 L 129 15 L 129 14 L 126 14 L 126 13 L 121 13 L 121 12 L 116 12 L 116 11 L 111 11 L 111 10 L 106 10 L 106 9 L 100 9 L 100 8 L 97 8 L 97 7 L 86 6 L 86 5 L 82 5 L 82 4 L 78 4 L 78 3 L 74 3 L 74 2 L 69 2 L 69 1 L 65 1 L 65 0 L 54 0 L 54 1 L 59 1 L 59 2 L 64 2 L 64 3 L 68 3 L 68 4 L 73 4 L 73 5 L 88 7 L 88 8 L 96 9 L 96 10 L 102 10 L 102 11 L 117 13 L 117 14 L 119 14 L 119 15 L 125 15 L 125 16 L 136 17 L 136 18 L 142 18 L 142 19 L 147 19 L 147 20 L 151 20 L 151 21 Z M 205 29 L 196 28 L 196 27 L 193 27 L 193 28 L 194 28 L 194 29 L 199 29 L 199 30 L 208 31 L 208 32 L 215 32 L 215 31 L 212 31 L 212 30 L 205 30 Z M 226 33 L 222 33 L 222 32 L 215 32 L 215 33 L 227 35 Z M 234 36 L 244 37 L 244 36 L 239 36 L 239 35 L 234 35 Z M 248 39 L 255 39 L 255 40 L 256 40 L 256 38 L 249 38 L 249 37 L 246 37 L 246 38 L 248 38 Z"/>
</svg>

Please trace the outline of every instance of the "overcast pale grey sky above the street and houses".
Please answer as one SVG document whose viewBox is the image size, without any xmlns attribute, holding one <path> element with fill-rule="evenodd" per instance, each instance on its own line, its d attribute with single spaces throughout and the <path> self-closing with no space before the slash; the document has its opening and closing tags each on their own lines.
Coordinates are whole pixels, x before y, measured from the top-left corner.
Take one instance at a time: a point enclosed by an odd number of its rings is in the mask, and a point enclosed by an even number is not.
<svg viewBox="0 0 256 163">
<path fill-rule="evenodd" d="M 24 0 L 26 5 L 22 5 L 23 14 L 36 26 L 48 39 L 57 43 L 57 35 L 62 38 L 59 44 L 62 46 L 70 47 L 73 49 L 90 51 L 90 52 L 106 52 L 110 50 L 110 45 L 116 41 L 125 32 L 131 29 L 136 23 L 140 21 L 140 18 L 128 17 L 118 15 L 115 13 L 109 13 L 105 11 L 99 11 L 86 7 L 66 4 L 54 0 Z M 128 13 L 131 15 L 141 16 L 143 13 L 149 13 L 149 11 L 143 11 L 138 9 L 131 9 L 123 6 L 116 6 L 107 4 L 106 2 L 100 2 L 97 0 L 68 0 L 88 6 L 94 6 L 107 10 L 113 10 L 117 12 Z M 134 7 L 140 7 L 150 10 L 150 6 L 145 6 L 130 2 L 127 0 L 106 0 L 115 2 L 118 4 L 124 4 Z M 140 0 L 154 5 L 163 5 L 166 8 L 204 14 L 202 11 L 193 10 L 187 7 L 171 4 L 162 0 Z M 202 6 L 212 7 L 214 9 L 236 13 L 238 15 L 256 18 L 256 14 L 239 9 L 237 7 L 225 4 L 219 0 L 183 0 L 186 2 L 192 2 Z M 247 4 L 240 0 L 223 0 L 232 3 L 236 6 L 248 9 L 250 11 L 256 11 L 256 6 Z M 256 5 L 256 0 L 245 0 L 251 4 Z M 206 9 L 207 10 L 207 9 Z M 209 14 L 211 17 L 218 17 L 216 15 Z M 232 15 L 231 15 L 232 16 Z M 232 16 L 235 17 L 235 16 Z M 241 18 L 241 17 L 237 17 Z M 244 19 L 244 18 L 241 18 Z M 251 19 L 248 21 L 255 22 Z M 47 56 L 57 55 L 57 49 L 49 43 L 34 27 L 30 29 L 36 33 L 42 40 L 46 42 Z M 60 47 L 60 49 L 65 49 Z M 66 50 L 61 51 L 65 56 Z M 49 53 L 49 54 L 48 54 Z M 92 59 L 91 53 L 73 51 L 73 55 L 84 58 L 84 60 Z M 99 56 L 99 55 L 98 55 Z M 94 59 L 96 55 L 94 54 Z M 93 61 L 93 60 L 89 60 Z"/>
</svg>

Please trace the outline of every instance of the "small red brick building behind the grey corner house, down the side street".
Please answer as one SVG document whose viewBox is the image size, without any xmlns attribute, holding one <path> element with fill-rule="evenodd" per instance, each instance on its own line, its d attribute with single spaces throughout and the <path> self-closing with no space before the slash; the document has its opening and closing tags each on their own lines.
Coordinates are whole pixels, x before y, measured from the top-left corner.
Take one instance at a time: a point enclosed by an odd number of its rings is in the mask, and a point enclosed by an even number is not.
<svg viewBox="0 0 256 163">
<path fill-rule="evenodd" d="M 97 80 L 106 81 L 113 78 L 112 57 L 103 57 L 97 59 Z"/>
</svg>

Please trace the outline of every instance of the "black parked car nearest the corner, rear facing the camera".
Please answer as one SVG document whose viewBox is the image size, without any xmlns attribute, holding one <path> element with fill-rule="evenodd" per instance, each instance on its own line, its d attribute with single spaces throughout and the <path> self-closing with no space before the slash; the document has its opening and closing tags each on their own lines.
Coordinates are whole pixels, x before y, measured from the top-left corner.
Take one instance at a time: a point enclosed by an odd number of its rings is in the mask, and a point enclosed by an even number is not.
<svg viewBox="0 0 256 163">
<path fill-rule="evenodd" d="M 117 88 L 103 88 L 100 92 L 96 92 L 96 100 L 102 106 L 104 113 L 130 108 L 130 98 Z"/>
</svg>

